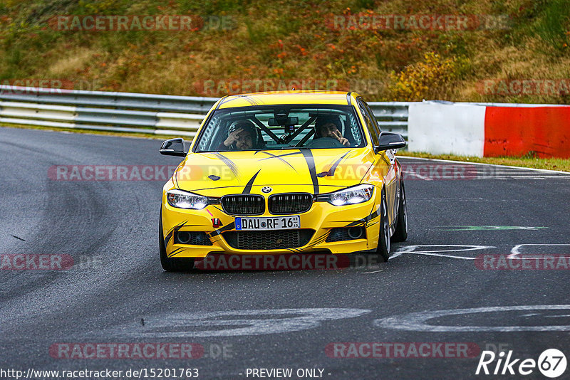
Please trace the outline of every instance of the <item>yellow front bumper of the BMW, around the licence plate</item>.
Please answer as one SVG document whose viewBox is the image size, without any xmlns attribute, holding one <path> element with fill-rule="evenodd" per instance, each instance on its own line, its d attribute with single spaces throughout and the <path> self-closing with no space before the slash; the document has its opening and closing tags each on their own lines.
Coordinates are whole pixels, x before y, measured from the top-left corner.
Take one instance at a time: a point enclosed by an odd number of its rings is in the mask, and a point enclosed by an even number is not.
<svg viewBox="0 0 570 380">
<path fill-rule="evenodd" d="M 307 243 L 299 247 L 280 247 L 278 249 L 238 249 L 229 243 L 227 232 L 236 231 L 236 216 L 228 215 L 219 205 L 210 205 L 202 210 L 177 209 L 167 204 L 165 193 L 162 195 L 162 233 L 165 237 L 166 253 L 170 258 L 204 258 L 209 253 L 261 254 L 274 255 L 283 253 L 353 253 L 375 249 L 378 246 L 380 228 L 380 199 L 375 191 L 373 197 L 362 204 L 333 206 L 325 201 L 315 201 L 309 211 L 299 213 L 300 229 L 314 231 Z M 252 217 L 277 217 L 266 211 Z M 220 226 L 213 226 L 212 219 L 219 219 Z M 366 232 L 361 238 L 344 241 L 327 241 L 333 228 L 362 227 Z M 175 234 L 181 231 L 206 233 L 211 245 L 180 244 Z M 281 230 L 287 231 L 287 230 Z M 240 231 L 237 231 L 238 233 Z M 279 238 L 279 233 L 270 234 Z M 271 241 L 267 242 L 271 246 Z"/>
</svg>

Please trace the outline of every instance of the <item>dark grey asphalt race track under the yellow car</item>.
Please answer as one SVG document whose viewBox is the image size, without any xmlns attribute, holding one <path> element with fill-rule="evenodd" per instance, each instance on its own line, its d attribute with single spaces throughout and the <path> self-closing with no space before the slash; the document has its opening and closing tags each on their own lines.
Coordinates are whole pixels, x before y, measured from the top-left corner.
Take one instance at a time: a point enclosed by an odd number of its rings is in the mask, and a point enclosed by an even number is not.
<svg viewBox="0 0 570 380">
<path fill-rule="evenodd" d="M 569 271 L 482 270 L 474 260 L 570 254 L 570 176 L 462 165 L 471 174 L 450 180 L 441 178 L 442 165 L 455 172 L 458 164 L 400 159 L 411 168 L 405 183 L 410 236 L 393 246 L 388 263 L 165 273 L 157 248 L 164 180 L 48 177 L 53 165 L 179 162 L 160 156 L 159 146 L 151 139 L 0 128 L 2 260 L 63 255 L 75 263 L 67 270 L 9 270 L 0 262 L 0 369 L 197 368 L 202 379 L 252 379 L 252 369 L 289 368 L 292 379 L 298 369 L 322 369 L 324 379 L 465 379 L 475 376 L 480 352 L 343 358 L 326 347 L 465 342 L 512 350 L 517 359 L 537 360 L 551 348 L 570 356 Z M 465 310 L 473 308 L 485 309 Z M 439 310 L 458 311 L 434 313 Z M 204 353 L 61 357 L 67 347 L 61 344 L 148 342 L 192 343 L 195 353 L 199 347 Z M 525 377 L 546 379 L 536 368 Z M 0 371 L 0 378 L 11 377 Z"/>
</svg>

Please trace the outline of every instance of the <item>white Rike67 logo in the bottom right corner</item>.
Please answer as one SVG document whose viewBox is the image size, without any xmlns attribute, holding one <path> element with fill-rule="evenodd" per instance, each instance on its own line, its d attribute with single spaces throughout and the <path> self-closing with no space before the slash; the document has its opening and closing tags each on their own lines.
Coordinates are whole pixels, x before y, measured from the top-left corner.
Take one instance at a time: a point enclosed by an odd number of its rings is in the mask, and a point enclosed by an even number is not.
<svg viewBox="0 0 570 380">
<path fill-rule="evenodd" d="M 494 361 L 497 359 L 497 363 Z M 538 367 L 541 374 L 551 379 L 561 376 L 566 371 L 566 356 L 558 349 L 546 349 L 539 359 L 514 359 L 510 350 L 506 357 L 504 351 L 499 352 L 498 358 L 492 351 L 483 351 L 475 374 L 493 375 L 529 375 Z"/>
</svg>

